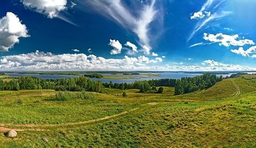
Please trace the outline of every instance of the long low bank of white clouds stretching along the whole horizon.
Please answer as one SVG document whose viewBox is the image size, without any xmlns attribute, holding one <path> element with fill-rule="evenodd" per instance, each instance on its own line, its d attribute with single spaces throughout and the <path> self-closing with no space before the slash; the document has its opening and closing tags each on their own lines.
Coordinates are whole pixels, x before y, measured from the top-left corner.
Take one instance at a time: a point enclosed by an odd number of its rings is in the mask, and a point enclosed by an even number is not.
<svg viewBox="0 0 256 148">
<path fill-rule="evenodd" d="M 256 57 L 256 56 L 255 56 Z M 52 54 L 38 50 L 35 53 L 2 56 L 0 59 L 1 70 L 151 70 L 151 71 L 233 71 L 256 70 L 253 67 L 222 64 L 213 60 L 202 62 L 198 65 L 155 65 L 161 62 L 160 58 L 150 60 L 146 56 L 128 57 L 121 59 L 97 57 L 93 54 L 86 56 L 80 54 Z"/>
</svg>

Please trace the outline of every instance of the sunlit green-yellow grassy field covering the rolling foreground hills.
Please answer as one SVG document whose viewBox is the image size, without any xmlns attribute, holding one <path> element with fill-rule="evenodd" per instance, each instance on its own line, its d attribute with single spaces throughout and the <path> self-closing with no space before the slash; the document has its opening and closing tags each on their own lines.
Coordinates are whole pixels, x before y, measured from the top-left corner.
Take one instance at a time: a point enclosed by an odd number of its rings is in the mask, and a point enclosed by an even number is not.
<svg viewBox="0 0 256 148">
<path fill-rule="evenodd" d="M 52 90 L 0 91 L 0 147 L 256 147 L 251 76 L 177 96 L 122 92 L 60 102 Z"/>
</svg>

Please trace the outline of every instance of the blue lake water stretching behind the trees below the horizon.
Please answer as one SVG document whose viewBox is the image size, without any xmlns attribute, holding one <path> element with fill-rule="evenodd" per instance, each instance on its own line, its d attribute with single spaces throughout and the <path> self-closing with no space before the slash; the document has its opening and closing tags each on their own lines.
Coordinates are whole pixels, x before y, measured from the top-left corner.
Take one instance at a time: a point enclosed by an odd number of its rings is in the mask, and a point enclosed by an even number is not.
<svg viewBox="0 0 256 148">
<path fill-rule="evenodd" d="M 152 73 L 159 74 L 158 76 L 148 76 L 148 75 L 118 75 L 118 77 L 132 77 L 131 79 L 104 79 L 104 78 L 92 78 L 93 81 L 101 81 L 108 82 L 112 81 L 113 83 L 133 83 L 134 81 L 143 81 L 150 79 L 181 79 L 182 77 L 195 77 L 197 75 L 201 75 L 201 73 L 184 73 L 184 72 L 163 72 L 163 73 Z M 7 73 L 10 77 L 22 77 L 22 76 L 31 76 L 38 77 L 42 79 L 59 79 L 59 78 L 76 78 L 79 75 L 53 75 L 53 74 L 19 74 L 19 73 Z M 110 75 L 113 77 L 117 77 L 117 75 L 112 74 L 102 74 L 102 75 Z M 231 74 L 222 74 L 223 77 L 230 76 Z M 220 76 L 220 74 L 217 74 Z"/>
</svg>

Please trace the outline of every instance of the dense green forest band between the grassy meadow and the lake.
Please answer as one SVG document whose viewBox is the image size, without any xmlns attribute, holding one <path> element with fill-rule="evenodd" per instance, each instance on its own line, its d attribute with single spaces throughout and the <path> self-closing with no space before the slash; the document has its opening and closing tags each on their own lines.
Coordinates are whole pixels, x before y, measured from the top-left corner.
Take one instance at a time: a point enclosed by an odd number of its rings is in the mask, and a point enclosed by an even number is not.
<svg viewBox="0 0 256 148">
<path fill-rule="evenodd" d="M 90 74 L 94 75 L 94 74 Z M 152 79 L 135 81 L 134 83 L 101 83 L 80 76 L 77 78 L 40 79 L 37 77 L 19 77 L 10 81 L 0 80 L 0 90 L 56 90 L 56 91 L 91 91 L 102 92 L 104 88 L 119 90 L 138 89 L 146 93 L 162 93 L 163 87 L 175 87 L 175 95 L 185 94 L 196 90 L 203 90 L 222 80 L 214 74 L 205 73 L 193 78 L 179 79 Z M 159 87 L 158 90 L 156 87 Z"/>
</svg>

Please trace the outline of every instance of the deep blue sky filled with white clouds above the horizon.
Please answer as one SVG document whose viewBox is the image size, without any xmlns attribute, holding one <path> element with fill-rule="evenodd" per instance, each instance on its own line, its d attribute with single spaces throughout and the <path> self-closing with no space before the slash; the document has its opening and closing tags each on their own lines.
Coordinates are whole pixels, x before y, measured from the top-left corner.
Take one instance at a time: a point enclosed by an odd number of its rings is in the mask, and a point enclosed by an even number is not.
<svg viewBox="0 0 256 148">
<path fill-rule="evenodd" d="M 1 0 L 0 70 L 256 70 L 255 0 Z"/>
</svg>

